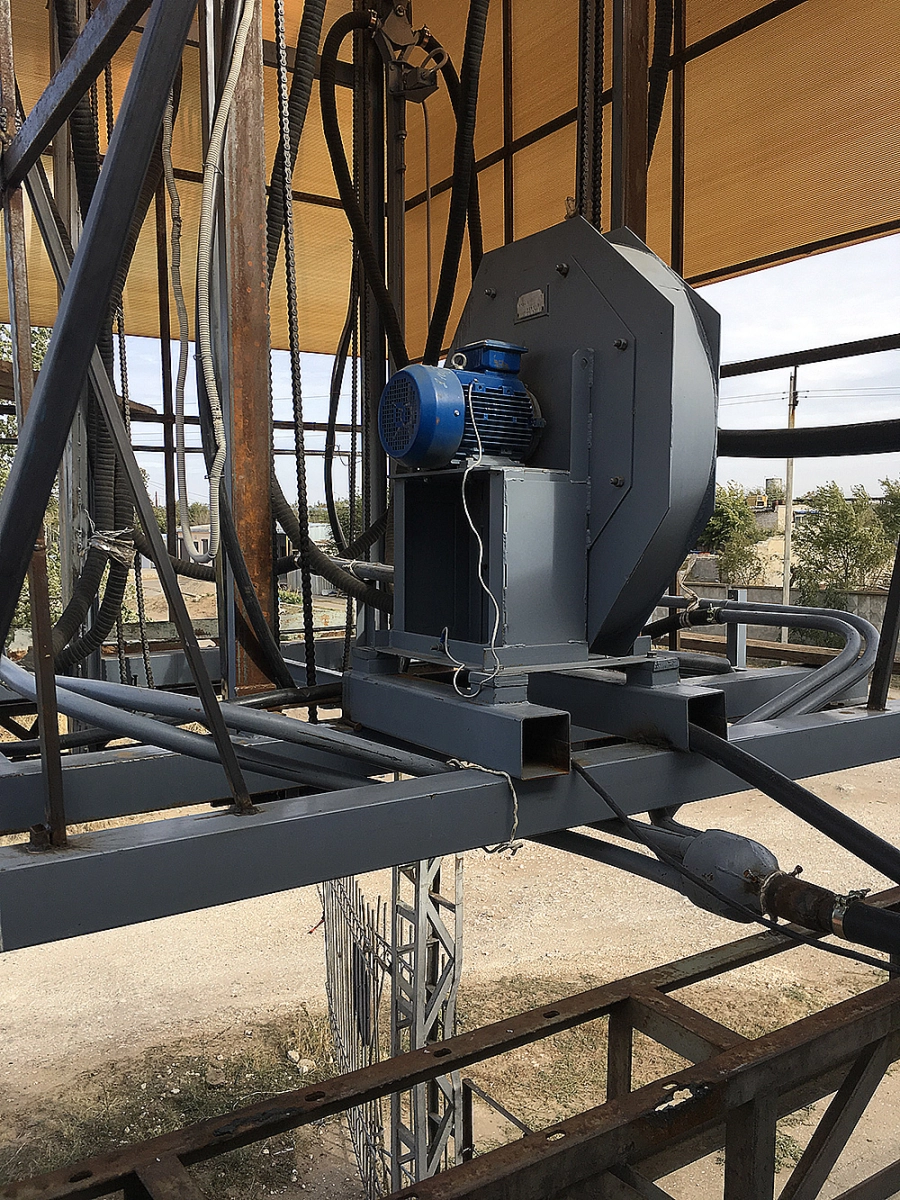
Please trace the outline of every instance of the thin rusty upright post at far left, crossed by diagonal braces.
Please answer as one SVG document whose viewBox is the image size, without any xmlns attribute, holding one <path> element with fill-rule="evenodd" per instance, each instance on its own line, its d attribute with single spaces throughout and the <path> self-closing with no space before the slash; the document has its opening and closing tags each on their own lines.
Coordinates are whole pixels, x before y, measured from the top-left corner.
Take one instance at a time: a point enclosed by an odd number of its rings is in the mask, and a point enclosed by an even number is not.
<svg viewBox="0 0 900 1200">
<path fill-rule="evenodd" d="M 16 113 L 16 66 L 12 49 L 12 12 L 10 0 L 0 0 L 0 94 L 7 121 Z M 28 292 L 25 209 L 22 188 L 4 192 L 4 234 L 6 242 L 6 283 L 8 288 L 10 329 L 12 335 L 12 380 L 18 425 L 28 414 L 35 386 L 31 358 L 31 306 Z M 43 528 L 35 539 L 35 551 L 28 569 L 31 601 L 35 678 L 37 684 L 41 764 L 46 788 L 44 826 L 35 845 L 66 845 L 66 809 L 60 758 L 56 680 L 53 665 L 53 628 L 47 575 L 47 545 Z"/>
</svg>

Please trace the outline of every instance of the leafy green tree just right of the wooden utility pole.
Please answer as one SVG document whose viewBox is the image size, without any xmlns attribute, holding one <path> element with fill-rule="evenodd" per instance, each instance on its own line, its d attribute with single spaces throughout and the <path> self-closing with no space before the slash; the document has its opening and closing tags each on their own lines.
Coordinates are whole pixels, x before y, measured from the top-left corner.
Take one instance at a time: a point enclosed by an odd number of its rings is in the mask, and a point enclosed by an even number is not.
<svg viewBox="0 0 900 1200">
<path fill-rule="evenodd" d="M 866 490 L 859 485 L 846 497 L 832 482 L 804 497 L 810 512 L 797 523 L 793 545 L 794 583 L 804 604 L 874 587 L 893 557 L 890 538 Z M 841 607 L 841 605 L 838 605 Z"/>
</svg>

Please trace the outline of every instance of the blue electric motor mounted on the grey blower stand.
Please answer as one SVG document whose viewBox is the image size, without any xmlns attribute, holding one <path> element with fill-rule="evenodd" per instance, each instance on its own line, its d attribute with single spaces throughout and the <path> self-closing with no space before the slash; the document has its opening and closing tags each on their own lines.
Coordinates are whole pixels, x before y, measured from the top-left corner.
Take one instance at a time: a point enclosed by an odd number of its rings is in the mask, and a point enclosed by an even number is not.
<svg viewBox="0 0 900 1200">
<path fill-rule="evenodd" d="M 473 342 L 446 367 L 397 371 L 378 406 L 385 454 L 404 467 L 446 467 L 476 456 L 480 439 L 482 455 L 526 462 L 545 422 L 518 378 L 524 353 L 509 342 Z"/>
</svg>

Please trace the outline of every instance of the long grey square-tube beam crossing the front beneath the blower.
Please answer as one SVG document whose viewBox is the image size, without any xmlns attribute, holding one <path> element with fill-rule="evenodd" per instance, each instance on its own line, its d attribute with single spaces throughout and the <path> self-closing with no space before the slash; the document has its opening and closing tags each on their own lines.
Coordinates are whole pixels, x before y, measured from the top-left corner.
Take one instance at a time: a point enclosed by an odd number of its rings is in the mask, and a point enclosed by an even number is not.
<svg viewBox="0 0 900 1200">
<path fill-rule="evenodd" d="M 892 702 L 887 714 L 791 718 L 740 734 L 766 762 L 804 778 L 893 757 L 900 704 Z M 629 812 L 746 790 L 679 751 L 614 745 L 581 761 Z M 83 786 L 96 778 L 72 774 Z M 124 780 L 125 772 L 109 769 L 106 786 L 121 798 Z M 0 792 L 8 786 L 0 776 Z M 517 782 L 516 792 L 522 836 L 612 816 L 577 773 Z M 67 791 L 67 809 L 71 803 Z M 506 839 L 511 820 L 505 779 L 461 770 L 281 800 L 247 816 L 223 809 L 101 829 L 48 854 L 8 846 L 0 848 L 0 938 L 14 949 L 473 850 Z"/>
</svg>

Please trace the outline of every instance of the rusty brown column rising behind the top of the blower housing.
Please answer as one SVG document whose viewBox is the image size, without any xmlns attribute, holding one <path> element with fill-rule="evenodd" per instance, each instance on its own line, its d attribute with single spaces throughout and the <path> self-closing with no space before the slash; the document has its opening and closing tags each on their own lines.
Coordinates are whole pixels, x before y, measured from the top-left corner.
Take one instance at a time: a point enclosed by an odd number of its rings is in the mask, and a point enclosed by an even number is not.
<svg viewBox="0 0 900 1200">
<path fill-rule="evenodd" d="M 647 0 L 613 0 L 610 227 L 647 236 Z"/>
</svg>

